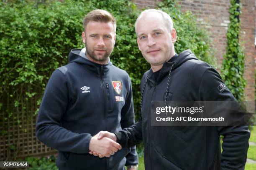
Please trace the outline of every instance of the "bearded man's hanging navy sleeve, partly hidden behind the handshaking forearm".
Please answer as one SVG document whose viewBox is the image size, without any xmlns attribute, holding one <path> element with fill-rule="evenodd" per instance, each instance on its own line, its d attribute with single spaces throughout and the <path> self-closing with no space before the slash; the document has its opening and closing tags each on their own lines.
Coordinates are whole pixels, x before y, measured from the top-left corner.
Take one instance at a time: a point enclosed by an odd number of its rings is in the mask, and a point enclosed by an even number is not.
<svg viewBox="0 0 256 170">
<path fill-rule="evenodd" d="M 121 110 L 121 127 L 128 128 L 134 124 L 134 109 L 133 109 L 133 94 L 131 79 L 128 76 L 128 95 L 125 98 L 125 105 Z M 136 151 L 136 146 L 131 146 L 131 152 L 126 155 L 125 165 L 137 165 L 138 164 L 138 154 Z"/>
</svg>

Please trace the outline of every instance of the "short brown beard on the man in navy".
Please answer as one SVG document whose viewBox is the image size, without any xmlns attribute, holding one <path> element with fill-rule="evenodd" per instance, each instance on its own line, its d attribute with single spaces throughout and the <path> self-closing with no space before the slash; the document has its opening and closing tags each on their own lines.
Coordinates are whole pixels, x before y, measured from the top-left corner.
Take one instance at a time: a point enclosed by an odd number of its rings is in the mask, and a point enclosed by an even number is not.
<svg viewBox="0 0 256 170">
<path fill-rule="evenodd" d="M 113 52 L 114 47 L 111 47 L 110 49 L 108 49 L 108 48 L 98 49 L 98 50 L 105 50 L 105 54 L 103 56 L 102 55 L 96 55 L 94 50 L 93 50 L 93 47 L 88 46 L 86 41 L 85 41 L 85 49 L 86 49 L 86 53 L 88 55 L 90 55 L 90 57 L 93 60 L 99 61 L 99 62 L 104 62 L 104 61 L 108 60 L 108 57 Z"/>
</svg>

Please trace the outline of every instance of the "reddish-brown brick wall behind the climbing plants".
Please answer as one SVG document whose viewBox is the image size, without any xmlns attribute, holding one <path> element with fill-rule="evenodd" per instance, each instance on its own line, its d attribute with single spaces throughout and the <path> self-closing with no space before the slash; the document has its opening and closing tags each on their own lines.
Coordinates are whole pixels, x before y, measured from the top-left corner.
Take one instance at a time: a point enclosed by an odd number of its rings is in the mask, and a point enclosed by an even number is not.
<svg viewBox="0 0 256 170">
<path fill-rule="evenodd" d="M 158 0 L 159 1 L 159 0 Z M 133 0 L 139 7 L 155 7 L 157 0 Z M 210 32 L 212 47 L 215 49 L 215 57 L 218 61 L 218 70 L 221 68 L 223 55 L 226 52 L 226 33 L 229 21 L 230 0 L 177 0 L 182 11 L 192 11 L 197 17 L 200 26 Z M 241 0 L 243 8 L 241 15 L 241 43 L 244 47 L 245 72 L 247 80 L 246 99 L 254 100 L 255 92 L 255 59 L 256 49 L 254 45 L 256 28 L 256 2 L 255 0 Z M 147 5 L 148 4 L 148 5 Z M 175 23 L 174 23 L 175 27 Z M 178 35 L 179 36 L 179 35 Z"/>
</svg>

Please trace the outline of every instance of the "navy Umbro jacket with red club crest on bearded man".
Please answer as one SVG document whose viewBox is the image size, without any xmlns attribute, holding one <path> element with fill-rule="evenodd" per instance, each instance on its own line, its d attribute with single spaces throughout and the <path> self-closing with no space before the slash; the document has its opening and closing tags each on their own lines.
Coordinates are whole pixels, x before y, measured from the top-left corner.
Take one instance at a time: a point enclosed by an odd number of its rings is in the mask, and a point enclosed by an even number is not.
<svg viewBox="0 0 256 170">
<path fill-rule="evenodd" d="M 69 64 L 56 69 L 46 86 L 36 122 L 36 136 L 59 150 L 60 170 L 123 170 L 138 164 L 136 148 L 110 158 L 90 155 L 92 136 L 116 133 L 134 124 L 131 80 L 112 62 L 99 65 L 71 50 Z M 118 87 L 117 87 L 118 86 Z"/>
</svg>

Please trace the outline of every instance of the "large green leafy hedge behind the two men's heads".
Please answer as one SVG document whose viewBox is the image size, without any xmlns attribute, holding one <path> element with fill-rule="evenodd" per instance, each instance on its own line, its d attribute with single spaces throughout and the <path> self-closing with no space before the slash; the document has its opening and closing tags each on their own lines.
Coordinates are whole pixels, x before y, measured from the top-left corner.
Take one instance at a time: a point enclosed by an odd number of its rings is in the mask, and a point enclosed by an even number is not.
<svg viewBox="0 0 256 170">
<path fill-rule="evenodd" d="M 182 14 L 172 0 L 159 4 L 174 20 L 178 39 L 176 52 L 190 48 L 195 55 L 215 65 L 207 33 L 196 25 L 191 13 Z M 140 80 L 150 68 L 138 50 L 134 23 L 139 11 L 130 0 L 58 0 L 0 2 L 0 97 L 11 105 L 0 103 L 6 120 L 15 112 L 38 107 L 51 73 L 67 64 L 72 48 L 84 47 L 81 38 L 84 15 L 94 9 L 105 9 L 117 19 L 116 44 L 111 55 L 114 65 L 126 70 L 133 84 L 136 118 L 140 117 Z M 35 110 L 37 113 L 38 110 Z"/>
</svg>

